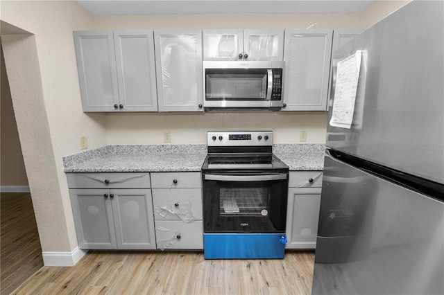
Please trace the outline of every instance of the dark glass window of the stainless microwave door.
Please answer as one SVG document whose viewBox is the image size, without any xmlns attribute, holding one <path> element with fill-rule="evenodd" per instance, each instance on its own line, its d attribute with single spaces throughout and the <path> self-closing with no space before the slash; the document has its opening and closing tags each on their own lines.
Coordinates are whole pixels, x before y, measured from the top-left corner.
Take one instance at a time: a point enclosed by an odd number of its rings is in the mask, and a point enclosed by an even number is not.
<svg viewBox="0 0 444 295">
<path fill-rule="evenodd" d="M 206 100 L 265 100 L 266 69 L 207 69 Z"/>
</svg>

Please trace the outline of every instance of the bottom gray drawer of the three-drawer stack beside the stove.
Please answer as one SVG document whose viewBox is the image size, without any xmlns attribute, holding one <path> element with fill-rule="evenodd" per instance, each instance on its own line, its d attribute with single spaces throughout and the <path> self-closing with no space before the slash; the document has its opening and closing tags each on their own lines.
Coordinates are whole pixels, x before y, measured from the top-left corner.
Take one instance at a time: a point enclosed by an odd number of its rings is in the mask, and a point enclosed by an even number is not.
<svg viewBox="0 0 444 295">
<path fill-rule="evenodd" d="M 155 224 L 157 249 L 203 249 L 202 221 L 161 220 Z"/>
</svg>

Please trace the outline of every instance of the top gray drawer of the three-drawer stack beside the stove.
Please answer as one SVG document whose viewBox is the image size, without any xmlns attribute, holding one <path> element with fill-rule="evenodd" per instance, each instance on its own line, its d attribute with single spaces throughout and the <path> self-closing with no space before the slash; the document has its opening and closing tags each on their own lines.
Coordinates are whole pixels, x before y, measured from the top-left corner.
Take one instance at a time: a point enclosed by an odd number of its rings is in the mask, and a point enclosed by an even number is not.
<svg viewBox="0 0 444 295">
<path fill-rule="evenodd" d="M 153 188 L 201 188 L 200 172 L 151 173 Z"/>
</svg>

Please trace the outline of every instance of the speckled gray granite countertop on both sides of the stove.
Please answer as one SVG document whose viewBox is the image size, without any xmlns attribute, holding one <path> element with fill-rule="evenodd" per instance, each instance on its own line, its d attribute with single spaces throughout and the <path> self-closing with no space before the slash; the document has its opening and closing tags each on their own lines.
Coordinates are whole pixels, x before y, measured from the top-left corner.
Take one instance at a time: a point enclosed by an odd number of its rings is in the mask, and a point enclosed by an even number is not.
<svg viewBox="0 0 444 295">
<path fill-rule="evenodd" d="M 325 145 L 277 144 L 273 153 L 289 170 L 323 170 Z M 65 172 L 200 171 L 206 145 L 106 145 L 63 157 Z"/>
</svg>

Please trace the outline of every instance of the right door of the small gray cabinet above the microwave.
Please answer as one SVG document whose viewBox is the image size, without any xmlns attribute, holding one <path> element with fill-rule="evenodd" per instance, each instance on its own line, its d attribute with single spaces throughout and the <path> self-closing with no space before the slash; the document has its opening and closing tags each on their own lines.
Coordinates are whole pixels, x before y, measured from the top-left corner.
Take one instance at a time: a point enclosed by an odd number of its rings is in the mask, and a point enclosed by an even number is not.
<svg viewBox="0 0 444 295">
<path fill-rule="evenodd" d="M 244 30 L 245 60 L 282 61 L 283 57 L 284 30 Z"/>
</svg>

